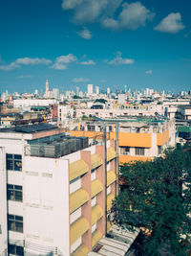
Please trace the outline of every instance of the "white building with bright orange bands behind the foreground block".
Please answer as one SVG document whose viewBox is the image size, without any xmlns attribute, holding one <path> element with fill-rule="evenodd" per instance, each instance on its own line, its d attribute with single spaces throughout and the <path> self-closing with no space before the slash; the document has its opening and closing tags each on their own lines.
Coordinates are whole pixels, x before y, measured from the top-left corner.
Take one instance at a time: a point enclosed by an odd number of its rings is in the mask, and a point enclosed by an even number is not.
<svg viewBox="0 0 191 256">
<path fill-rule="evenodd" d="M 118 155 L 119 165 L 130 161 L 152 160 L 161 155 L 167 148 L 176 145 L 176 128 L 174 120 L 156 120 L 155 118 L 109 118 L 106 123 L 107 136 L 117 139 L 116 125 L 118 123 Z M 82 122 L 74 130 L 69 130 L 73 136 L 87 136 L 90 141 L 102 140 L 99 136 L 103 122 Z"/>
</svg>

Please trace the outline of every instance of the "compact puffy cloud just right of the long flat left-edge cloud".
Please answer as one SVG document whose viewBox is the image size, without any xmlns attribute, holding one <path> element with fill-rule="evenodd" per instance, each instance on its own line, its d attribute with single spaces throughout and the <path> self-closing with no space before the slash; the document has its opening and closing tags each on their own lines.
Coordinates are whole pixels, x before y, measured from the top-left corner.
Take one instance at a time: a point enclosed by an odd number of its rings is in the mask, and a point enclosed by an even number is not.
<svg viewBox="0 0 191 256">
<path fill-rule="evenodd" d="M 52 66 L 53 69 L 67 69 L 68 68 L 68 64 L 76 61 L 77 58 L 73 55 L 73 54 L 69 54 L 66 56 L 59 56 L 57 58 L 55 58 L 55 62 Z"/>
</svg>

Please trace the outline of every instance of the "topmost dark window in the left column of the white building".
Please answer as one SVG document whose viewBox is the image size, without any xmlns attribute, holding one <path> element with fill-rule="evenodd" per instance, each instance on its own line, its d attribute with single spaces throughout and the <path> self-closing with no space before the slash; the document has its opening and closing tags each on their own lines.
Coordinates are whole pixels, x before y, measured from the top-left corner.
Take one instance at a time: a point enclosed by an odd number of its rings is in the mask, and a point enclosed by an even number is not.
<svg viewBox="0 0 191 256">
<path fill-rule="evenodd" d="M 7 153 L 7 170 L 22 171 L 22 155 Z"/>
</svg>

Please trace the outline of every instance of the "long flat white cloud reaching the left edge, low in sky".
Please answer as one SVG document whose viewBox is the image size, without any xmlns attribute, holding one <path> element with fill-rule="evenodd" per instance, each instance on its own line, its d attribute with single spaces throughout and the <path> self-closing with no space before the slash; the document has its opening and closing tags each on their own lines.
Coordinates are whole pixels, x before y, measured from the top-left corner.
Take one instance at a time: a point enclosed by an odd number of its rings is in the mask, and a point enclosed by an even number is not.
<svg viewBox="0 0 191 256">
<path fill-rule="evenodd" d="M 15 61 L 8 65 L 0 65 L 0 70 L 11 71 L 13 69 L 20 68 L 22 65 L 49 65 L 50 63 L 52 63 L 52 60 L 47 58 L 17 58 Z"/>
</svg>

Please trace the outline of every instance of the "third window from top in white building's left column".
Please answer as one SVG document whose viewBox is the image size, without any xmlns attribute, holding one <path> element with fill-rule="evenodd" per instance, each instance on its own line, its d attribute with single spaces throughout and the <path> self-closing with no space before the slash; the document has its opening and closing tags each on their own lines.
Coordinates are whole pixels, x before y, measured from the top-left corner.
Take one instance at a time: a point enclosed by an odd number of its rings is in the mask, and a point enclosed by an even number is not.
<svg viewBox="0 0 191 256">
<path fill-rule="evenodd" d="M 8 230 L 23 233 L 23 217 L 8 215 Z"/>
</svg>

